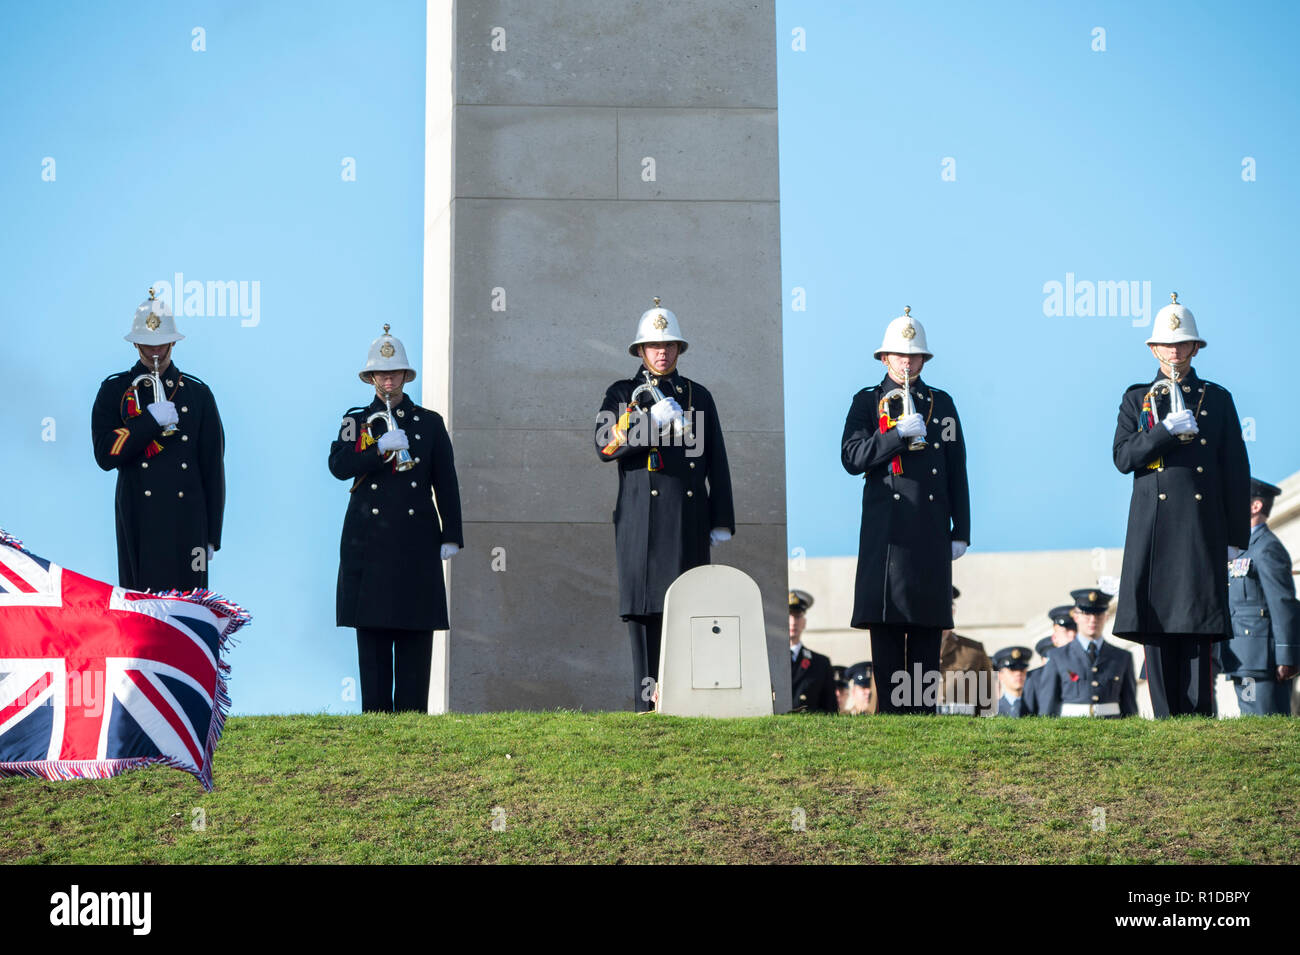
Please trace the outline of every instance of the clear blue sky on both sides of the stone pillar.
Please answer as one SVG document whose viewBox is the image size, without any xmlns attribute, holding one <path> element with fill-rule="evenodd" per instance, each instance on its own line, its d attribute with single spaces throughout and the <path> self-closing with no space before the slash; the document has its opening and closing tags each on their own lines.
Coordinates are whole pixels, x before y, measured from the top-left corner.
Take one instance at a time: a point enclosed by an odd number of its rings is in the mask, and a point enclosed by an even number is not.
<svg viewBox="0 0 1300 955">
<path fill-rule="evenodd" d="M 1176 288 L 1210 340 L 1197 369 L 1256 420 L 1254 472 L 1300 469 L 1297 19 L 1282 3 L 777 3 L 790 547 L 855 552 L 838 438 L 905 304 L 967 429 L 974 546 L 1118 546 L 1110 438 L 1123 387 L 1154 372 L 1148 331 L 1044 317 L 1066 273 L 1149 281 L 1156 307 Z M 346 485 L 325 447 L 365 398 L 378 314 L 420 353 L 424 4 L 10 4 L 0 88 L 0 525 L 114 579 L 88 417 L 133 360 L 131 312 L 176 272 L 260 282 L 257 326 L 182 320 L 176 355 L 228 424 L 213 583 L 256 616 L 234 709 L 356 711 L 352 633 L 334 628 Z"/>
</svg>

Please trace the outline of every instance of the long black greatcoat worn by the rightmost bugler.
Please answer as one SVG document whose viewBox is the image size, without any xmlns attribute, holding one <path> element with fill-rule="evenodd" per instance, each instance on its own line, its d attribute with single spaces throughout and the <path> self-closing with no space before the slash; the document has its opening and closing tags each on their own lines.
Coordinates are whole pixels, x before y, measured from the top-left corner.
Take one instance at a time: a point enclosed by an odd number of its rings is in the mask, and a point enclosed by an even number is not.
<svg viewBox="0 0 1300 955">
<path fill-rule="evenodd" d="M 1251 542 L 1251 464 L 1242 422 L 1232 395 L 1192 369 L 1183 377 L 1183 401 L 1196 413 L 1195 440 L 1184 444 L 1160 424 L 1169 413 L 1164 395 L 1153 407 L 1154 429 L 1141 431 L 1138 420 L 1149 388 L 1124 391 L 1115 425 L 1115 466 L 1134 476 L 1134 490 L 1114 633 L 1227 639 L 1227 547 Z"/>
</svg>

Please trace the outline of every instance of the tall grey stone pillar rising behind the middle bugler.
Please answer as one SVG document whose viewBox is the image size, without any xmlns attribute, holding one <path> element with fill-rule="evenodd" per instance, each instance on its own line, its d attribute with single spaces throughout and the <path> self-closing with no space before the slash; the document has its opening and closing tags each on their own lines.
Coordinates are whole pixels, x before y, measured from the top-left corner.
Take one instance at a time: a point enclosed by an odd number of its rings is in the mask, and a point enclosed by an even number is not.
<svg viewBox="0 0 1300 955">
<path fill-rule="evenodd" d="M 658 295 L 716 399 L 789 700 L 772 0 L 428 3 L 422 401 L 465 517 L 434 711 L 632 708 L 593 447 Z"/>
</svg>

